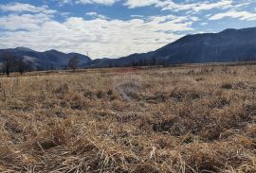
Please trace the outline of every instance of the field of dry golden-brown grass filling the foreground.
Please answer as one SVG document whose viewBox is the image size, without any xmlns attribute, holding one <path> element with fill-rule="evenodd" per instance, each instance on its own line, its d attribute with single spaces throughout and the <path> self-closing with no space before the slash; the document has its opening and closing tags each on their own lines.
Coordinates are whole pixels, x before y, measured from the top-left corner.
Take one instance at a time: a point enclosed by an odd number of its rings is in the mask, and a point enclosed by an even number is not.
<svg viewBox="0 0 256 173">
<path fill-rule="evenodd" d="M 256 65 L 0 78 L 0 172 L 256 172 Z"/>
</svg>

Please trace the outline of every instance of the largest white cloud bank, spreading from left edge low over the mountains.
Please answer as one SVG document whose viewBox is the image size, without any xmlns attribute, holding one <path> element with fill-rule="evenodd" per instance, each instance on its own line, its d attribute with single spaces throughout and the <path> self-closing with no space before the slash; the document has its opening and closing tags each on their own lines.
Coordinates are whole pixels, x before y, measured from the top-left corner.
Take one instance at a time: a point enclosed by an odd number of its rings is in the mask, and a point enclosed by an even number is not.
<svg viewBox="0 0 256 173">
<path fill-rule="evenodd" d="M 92 58 L 116 58 L 171 43 L 183 36 L 175 31 L 192 30 L 192 22 L 192 17 L 167 15 L 128 21 L 69 17 L 60 23 L 42 13 L 12 14 L 0 18 L 0 28 L 8 29 L 0 35 L 0 46 L 89 51 Z"/>
</svg>

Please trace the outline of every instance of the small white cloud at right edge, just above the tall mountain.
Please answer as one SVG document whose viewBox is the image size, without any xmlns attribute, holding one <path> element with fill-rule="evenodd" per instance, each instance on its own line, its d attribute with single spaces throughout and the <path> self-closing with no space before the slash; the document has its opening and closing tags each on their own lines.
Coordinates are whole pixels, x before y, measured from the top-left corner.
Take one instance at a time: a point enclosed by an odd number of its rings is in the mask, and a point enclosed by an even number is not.
<svg viewBox="0 0 256 173">
<path fill-rule="evenodd" d="M 210 20 L 220 20 L 223 18 L 237 18 L 240 20 L 245 20 L 245 21 L 255 21 L 256 20 L 256 14 L 251 13 L 248 11 L 236 11 L 236 10 L 229 10 L 227 12 L 222 12 L 222 13 L 217 13 L 212 16 L 210 16 Z"/>
</svg>

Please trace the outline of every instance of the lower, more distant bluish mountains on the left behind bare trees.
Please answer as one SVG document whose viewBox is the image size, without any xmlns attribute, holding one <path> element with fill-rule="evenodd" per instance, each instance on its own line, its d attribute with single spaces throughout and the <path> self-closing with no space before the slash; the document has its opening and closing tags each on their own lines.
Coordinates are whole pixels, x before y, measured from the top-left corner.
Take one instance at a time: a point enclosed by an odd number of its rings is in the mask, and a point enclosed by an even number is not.
<svg viewBox="0 0 256 173">
<path fill-rule="evenodd" d="M 76 56 L 79 59 L 79 67 L 88 66 L 89 62 L 91 61 L 89 57 L 84 56 L 82 54 L 65 54 L 63 52 L 59 52 L 53 49 L 45 52 L 37 52 L 27 47 L 0 49 L 0 57 L 5 53 L 14 55 L 17 58 L 23 57 L 25 61 L 32 62 L 33 66 L 39 66 L 40 68 L 44 69 L 62 69 L 67 65 L 68 61 L 74 56 Z"/>
</svg>

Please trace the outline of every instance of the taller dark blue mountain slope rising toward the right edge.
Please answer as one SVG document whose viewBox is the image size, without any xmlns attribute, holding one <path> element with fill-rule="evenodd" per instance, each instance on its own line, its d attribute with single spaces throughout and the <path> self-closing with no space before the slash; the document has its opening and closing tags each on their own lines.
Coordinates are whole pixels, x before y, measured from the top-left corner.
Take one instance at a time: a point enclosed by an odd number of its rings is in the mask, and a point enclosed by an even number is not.
<svg viewBox="0 0 256 173">
<path fill-rule="evenodd" d="M 256 61 L 256 27 L 226 29 L 219 33 L 187 35 L 155 51 L 116 60 L 93 61 L 95 66 L 130 66 L 140 61 L 201 63 Z"/>
</svg>

